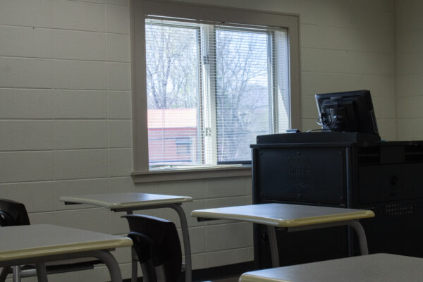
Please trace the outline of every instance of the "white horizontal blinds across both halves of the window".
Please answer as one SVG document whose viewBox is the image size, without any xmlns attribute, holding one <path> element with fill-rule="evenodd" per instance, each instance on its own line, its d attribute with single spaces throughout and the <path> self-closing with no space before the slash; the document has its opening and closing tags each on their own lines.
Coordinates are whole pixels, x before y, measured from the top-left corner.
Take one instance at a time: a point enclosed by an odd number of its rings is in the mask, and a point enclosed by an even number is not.
<svg viewBox="0 0 423 282">
<path fill-rule="evenodd" d="M 287 32 L 146 20 L 149 165 L 250 161 L 289 128 Z"/>
</svg>

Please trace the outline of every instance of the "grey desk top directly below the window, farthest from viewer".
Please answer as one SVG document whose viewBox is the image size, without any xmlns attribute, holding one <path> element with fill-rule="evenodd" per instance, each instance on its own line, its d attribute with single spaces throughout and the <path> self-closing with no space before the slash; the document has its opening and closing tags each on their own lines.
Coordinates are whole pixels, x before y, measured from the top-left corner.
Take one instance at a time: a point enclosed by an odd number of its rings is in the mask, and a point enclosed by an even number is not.
<svg viewBox="0 0 423 282">
<path fill-rule="evenodd" d="M 136 192 L 63 196 L 59 200 L 74 204 L 92 204 L 108 209 L 125 209 L 152 206 L 155 204 L 178 204 L 192 202 L 192 197 L 160 195 Z"/>
</svg>

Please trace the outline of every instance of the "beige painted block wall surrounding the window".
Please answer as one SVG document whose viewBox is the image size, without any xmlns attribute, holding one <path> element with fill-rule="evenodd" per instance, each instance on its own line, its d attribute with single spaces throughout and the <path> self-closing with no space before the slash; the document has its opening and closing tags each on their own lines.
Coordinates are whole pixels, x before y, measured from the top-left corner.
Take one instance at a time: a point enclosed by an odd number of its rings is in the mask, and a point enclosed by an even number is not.
<svg viewBox="0 0 423 282">
<path fill-rule="evenodd" d="M 317 128 L 313 94 L 369 89 L 382 137 L 396 139 L 393 0 L 196 2 L 299 14 L 302 130 Z M 187 214 L 251 202 L 245 177 L 133 185 L 129 46 L 128 0 L 0 1 L 0 197 L 24 202 L 32 223 L 127 232 L 121 214 L 57 200 L 80 193 L 189 195 Z M 252 260 L 247 223 L 189 226 L 195 269 Z M 117 257 L 128 278 L 129 250 Z M 106 281 L 107 271 L 51 281 L 75 279 Z"/>
</svg>

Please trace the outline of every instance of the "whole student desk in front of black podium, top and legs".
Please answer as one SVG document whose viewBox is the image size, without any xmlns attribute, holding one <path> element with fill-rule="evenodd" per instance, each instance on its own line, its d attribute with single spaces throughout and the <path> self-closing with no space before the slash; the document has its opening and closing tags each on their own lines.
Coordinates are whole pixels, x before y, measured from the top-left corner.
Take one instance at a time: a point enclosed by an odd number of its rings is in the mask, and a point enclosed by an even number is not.
<svg viewBox="0 0 423 282">
<path fill-rule="evenodd" d="M 231 219 L 267 226 L 272 266 L 277 267 L 280 264 L 275 228 L 285 228 L 287 232 L 293 232 L 332 226 L 351 226 L 357 233 L 360 252 L 362 255 L 367 255 L 366 235 L 357 219 L 374 217 L 374 212 L 362 209 L 300 204 L 250 204 L 238 207 L 198 209 L 192 211 L 191 216 L 198 217 L 200 221 L 204 219 Z"/>
</svg>

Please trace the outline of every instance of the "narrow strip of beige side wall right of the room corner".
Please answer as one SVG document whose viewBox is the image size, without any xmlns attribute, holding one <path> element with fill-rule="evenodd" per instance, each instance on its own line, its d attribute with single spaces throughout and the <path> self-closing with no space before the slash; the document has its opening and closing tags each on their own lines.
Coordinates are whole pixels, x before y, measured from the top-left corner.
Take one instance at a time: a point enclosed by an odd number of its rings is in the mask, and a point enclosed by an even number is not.
<svg viewBox="0 0 423 282">
<path fill-rule="evenodd" d="M 398 140 L 423 139 L 423 2 L 396 1 Z"/>
</svg>

